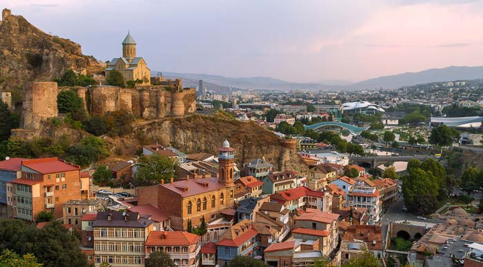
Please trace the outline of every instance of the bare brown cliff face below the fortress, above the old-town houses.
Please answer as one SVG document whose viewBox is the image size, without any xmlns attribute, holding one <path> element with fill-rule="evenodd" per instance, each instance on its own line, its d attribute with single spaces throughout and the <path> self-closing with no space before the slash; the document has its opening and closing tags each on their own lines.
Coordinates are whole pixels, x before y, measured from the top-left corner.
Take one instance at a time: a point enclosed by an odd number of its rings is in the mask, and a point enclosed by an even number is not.
<svg viewBox="0 0 483 267">
<path fill-rule="evenodd" d="M 172 145 L 185 153 L 217 153 L 221 142 L 230 141 L 235 149 L 239 167 L 242 162 L 264 158 L 275 169 L 308 170 L 296 149 L 290 149 L 284 140 L 255 122 L 239 122 L 213 116 L 193 115 L 182 118 L 166 118 L 136 125 L 133 133 L 124 138 L 110 139 L 113 151 L 132 154 L 141 144 L 159 142 Z"/>
</svg>

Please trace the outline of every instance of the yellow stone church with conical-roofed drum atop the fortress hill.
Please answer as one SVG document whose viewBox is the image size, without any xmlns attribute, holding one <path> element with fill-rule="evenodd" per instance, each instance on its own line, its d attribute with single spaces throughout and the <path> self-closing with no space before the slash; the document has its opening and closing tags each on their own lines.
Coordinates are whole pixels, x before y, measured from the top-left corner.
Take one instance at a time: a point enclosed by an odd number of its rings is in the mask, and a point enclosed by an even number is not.
<svg viewBox="0 0 483 267">
<path fill-rule="evenodd" d="M 136 41 L 132 39 L 131 34 L 122 41 L 122 56 L 120 58 L 112 58 L 106 68 L 106 77 L 109 76 L 111 70 L 118 70 L 126 81 L 141 80 L 143 84 L 150 83 L 150 72 L 144 58 L 136 56 Z"/>
</svg>

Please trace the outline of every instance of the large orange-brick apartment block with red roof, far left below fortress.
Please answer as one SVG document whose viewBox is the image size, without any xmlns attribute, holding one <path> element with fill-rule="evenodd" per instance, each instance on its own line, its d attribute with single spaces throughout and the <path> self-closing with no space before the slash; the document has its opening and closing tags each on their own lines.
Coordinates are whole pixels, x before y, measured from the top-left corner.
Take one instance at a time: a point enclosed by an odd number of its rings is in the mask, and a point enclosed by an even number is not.
<svg viewBox="0 0 483 267">
<path fill-rule="evenodd" d="M 41 211 L 63 216 L 63 204 L 81 198 L 80 167 L 57 158 L 22 160 L 21 178 L 7 182 L 10 217 L 35 221 Z"/>
</svg>

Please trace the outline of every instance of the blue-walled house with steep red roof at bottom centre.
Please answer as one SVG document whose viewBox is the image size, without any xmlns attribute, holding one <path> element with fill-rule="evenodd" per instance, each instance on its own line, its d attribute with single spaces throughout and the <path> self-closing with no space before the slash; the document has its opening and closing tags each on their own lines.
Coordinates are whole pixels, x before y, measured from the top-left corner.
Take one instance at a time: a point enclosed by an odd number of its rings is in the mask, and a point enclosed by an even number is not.
<svg viewBox="0 0 483 267">
<path fill-rule="evenodd" d="M 217 263 L 219 266 L 226 266 L 237 255 L 255 257 L 260 253 L 255 250 L 257 242 L 257 231 L 248 220 L 243 220 L 226 231 L 217 244 Z"/>
</svg>

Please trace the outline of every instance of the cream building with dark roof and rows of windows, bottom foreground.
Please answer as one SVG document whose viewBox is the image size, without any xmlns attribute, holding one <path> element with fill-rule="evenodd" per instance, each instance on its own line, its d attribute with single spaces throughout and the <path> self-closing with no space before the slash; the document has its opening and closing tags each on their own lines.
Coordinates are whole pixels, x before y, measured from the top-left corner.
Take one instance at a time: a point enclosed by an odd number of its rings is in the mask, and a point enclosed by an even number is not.
<svg viewBox="0 0 483 267">
<path fill-rule="evenodd" d="M 144 244 L 152 221 L 130 211 L 102 211 L 92 224 L 95 266 L 144 267 Z"/>
</svg>

